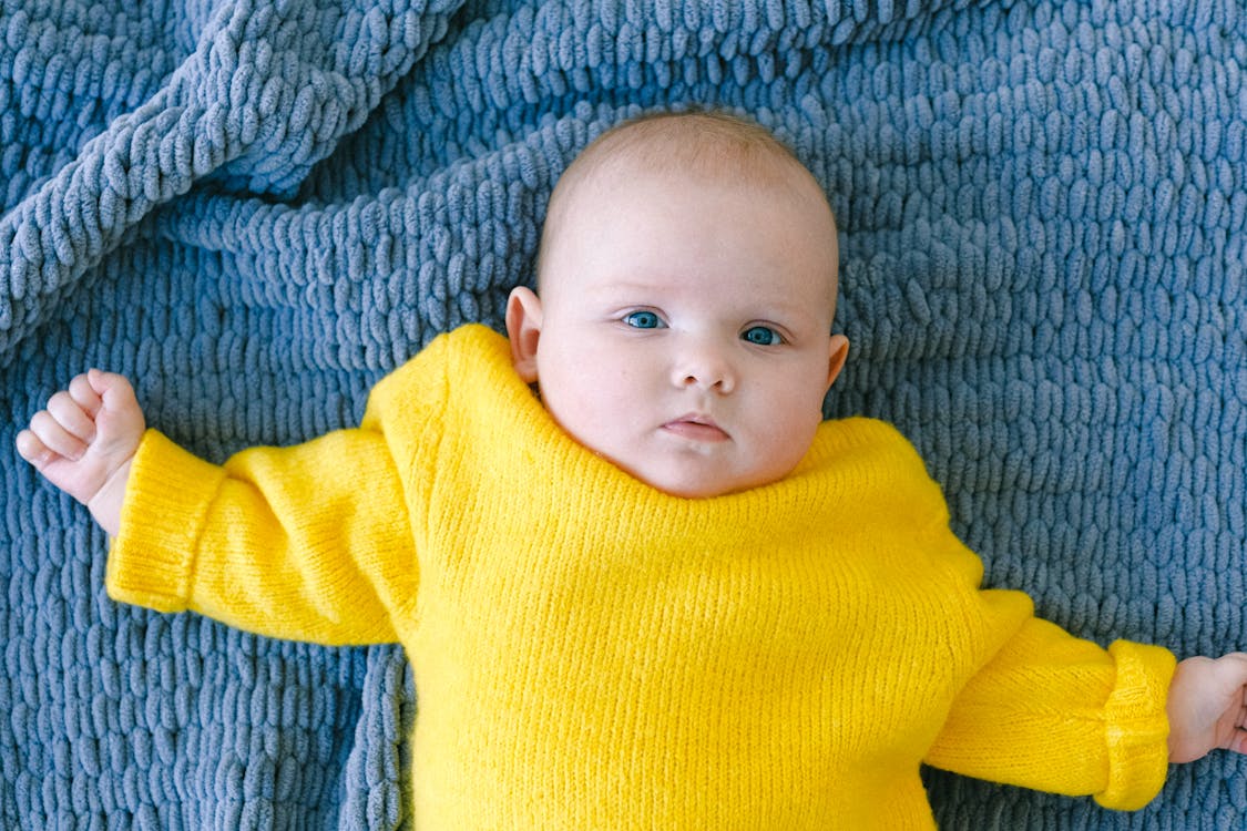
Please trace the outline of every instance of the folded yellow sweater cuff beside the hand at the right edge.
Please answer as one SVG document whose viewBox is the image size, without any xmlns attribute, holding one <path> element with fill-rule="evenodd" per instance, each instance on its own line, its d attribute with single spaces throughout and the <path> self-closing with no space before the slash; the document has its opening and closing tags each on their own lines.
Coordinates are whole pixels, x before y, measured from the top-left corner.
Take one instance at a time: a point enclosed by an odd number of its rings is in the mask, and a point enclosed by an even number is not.
<svg viewBox="0 0 1247 831">
<path fill-rule="evenodd" d="M 1119 640 L 1109 647 L 1117 680 L 1106 705 L 1109 786 L 1095 800 L 1134 811 L 1147 805 L 1168 772 L 1170 680 L 1177 660 L 1167 649 Z"/>
</svg>

